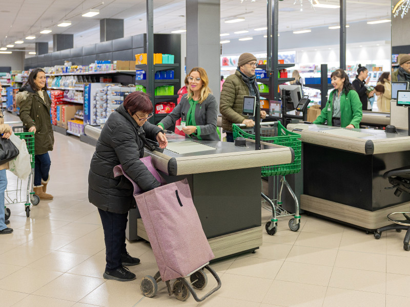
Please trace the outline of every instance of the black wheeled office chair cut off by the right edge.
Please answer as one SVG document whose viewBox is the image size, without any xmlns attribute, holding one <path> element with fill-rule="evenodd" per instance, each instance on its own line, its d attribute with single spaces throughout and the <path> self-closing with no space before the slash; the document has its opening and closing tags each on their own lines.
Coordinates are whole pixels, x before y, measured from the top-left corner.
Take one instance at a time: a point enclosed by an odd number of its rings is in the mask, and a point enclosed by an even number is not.
<svg viewBox="0 0 410 307">
<path fill-rule="evenodd" d="M 388 182 L 393 185 L 389 189 L 396 188 L 394 194 L 399 197 L 401 193 L 410 193 L 410 166 L 392 169 L 386 171 L 383 174 L 384 178 L 388 178 Z M 403 220 L 396 220 L 398 215 L 403 215 Z M 410 212 L 393 212 L 387 215 L 389 221 L 395 223 L 377 229 L 374 233 L 376 239 L 380 239 L 381 233 L 386 230 L 395 229 L 397 232 L 401 232 L 403 229 L 407 230 L 403 240 L 403 249 L 410 251 Z M 395 217 L 395 218 L 394 218 Z"/>
</svg>

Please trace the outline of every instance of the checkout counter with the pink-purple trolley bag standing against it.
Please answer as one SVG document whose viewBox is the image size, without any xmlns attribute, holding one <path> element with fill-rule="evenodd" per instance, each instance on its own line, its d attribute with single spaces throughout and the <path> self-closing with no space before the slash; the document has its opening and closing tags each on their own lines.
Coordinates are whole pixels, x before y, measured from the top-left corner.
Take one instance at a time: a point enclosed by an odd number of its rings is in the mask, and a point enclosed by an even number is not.
<svg viewBox="0 0 410 307">
<path fill-rule="evenodd" d="M 85 133 L 98 138 L 100 129 L 86 126 Z M 255 150 L 253 140 L 239 147 L 175 134 L 167 134 L 167 139 L 163 152 L 145 148 L 145 155 L 152 157 L 168 183 L 188 179 L 215 258 L 258 249 L 262 245 L 261 166 L 291 163 L 293 149 L 262 142 L 262 149 Z M 128 220 L 127 238 L 148 240 L 136 209 L 130 210 Z"/>
</svg>

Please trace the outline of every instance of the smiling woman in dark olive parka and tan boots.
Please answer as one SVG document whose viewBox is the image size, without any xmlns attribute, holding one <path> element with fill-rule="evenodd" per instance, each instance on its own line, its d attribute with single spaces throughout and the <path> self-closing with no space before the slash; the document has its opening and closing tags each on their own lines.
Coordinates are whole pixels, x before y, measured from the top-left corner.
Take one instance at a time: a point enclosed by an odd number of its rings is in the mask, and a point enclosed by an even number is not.
<svg viewBox="0 0 410 307">
<path fill-rule="evenodd" d="M 48 151 L 53 150 L 54 135 L 51 127 L 51 99 L 47 94 L 46 73 L 36 68 L 31 71 L 26 84 L 16 94 L 20 106 L 20 119 L 29 132 L 34 133 L 34 192 L 40 200 L 52 200 L 46 193 L 50 181 L 51 160 Z"/>
</svg>

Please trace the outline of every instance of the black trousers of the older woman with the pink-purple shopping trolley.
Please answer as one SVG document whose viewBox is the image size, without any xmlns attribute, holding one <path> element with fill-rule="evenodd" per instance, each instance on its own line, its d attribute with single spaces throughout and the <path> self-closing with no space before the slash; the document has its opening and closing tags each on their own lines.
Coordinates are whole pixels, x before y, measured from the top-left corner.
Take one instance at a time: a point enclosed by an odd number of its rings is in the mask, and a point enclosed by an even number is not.
<svg viewBox="0 0 410 307">
<path fill-rule="evenodd" d="M 120 214 L 98 209 L 104 229 L 106 243 L 106 270 L 115 270 L 121 266 L 121 254 L 126 253 L 125 230 L 128 213 Z"/>
</svg>

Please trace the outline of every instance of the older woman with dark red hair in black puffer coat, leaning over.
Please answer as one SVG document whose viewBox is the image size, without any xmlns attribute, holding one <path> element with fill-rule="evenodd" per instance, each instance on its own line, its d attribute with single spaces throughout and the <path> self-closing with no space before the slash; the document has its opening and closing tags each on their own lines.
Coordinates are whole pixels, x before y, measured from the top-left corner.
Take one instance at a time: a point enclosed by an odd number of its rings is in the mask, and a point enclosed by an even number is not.
<svg viewBox="0 0 410 307">
<path fill-rule="evenodd" d="M 121 164 L 125 173 L 144 190 L 160 186 L 144 157 L 145 138 L 157 140 L 165 148 L 167 138 L 161 129 L 147 120 L 152 117 L 152 103 L 146 93 L 133 92 L 107 119 L 91 159 L 88 175 L 88 199 L 98 208 L 106 245 L 105 279 L 129 281 L 135 274 L 125 266 L 139 264 L 126 249 L 128 211 L 135 207 L 134 187 L 125 176 L 114 178 L 113 168 Z M 164 204 L 166 205 L 166 204 Z"/>
</svg>

